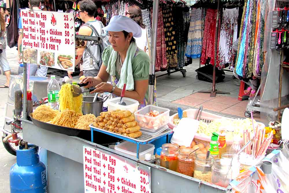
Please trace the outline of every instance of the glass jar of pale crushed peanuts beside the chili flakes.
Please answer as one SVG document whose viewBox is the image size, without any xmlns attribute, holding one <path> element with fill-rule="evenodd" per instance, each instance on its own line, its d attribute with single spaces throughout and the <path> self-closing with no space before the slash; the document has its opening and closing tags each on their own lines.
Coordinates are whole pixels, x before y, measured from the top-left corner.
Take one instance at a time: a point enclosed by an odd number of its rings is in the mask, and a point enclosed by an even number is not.
<svg viewBox="0 0 289 193">
<path fill-rule="evenodd" d="M 214 158 L 206 154 L 197 154 L 195 159 L 194 178 L 211 183 Z"/>
</svg>

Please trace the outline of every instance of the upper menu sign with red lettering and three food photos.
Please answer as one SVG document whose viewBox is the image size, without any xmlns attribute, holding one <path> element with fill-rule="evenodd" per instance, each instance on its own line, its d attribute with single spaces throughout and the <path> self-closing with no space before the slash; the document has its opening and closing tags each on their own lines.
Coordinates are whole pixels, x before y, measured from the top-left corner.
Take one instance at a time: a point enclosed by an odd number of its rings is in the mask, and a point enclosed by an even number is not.
<svg viewBox="0 0 289 193">
<path fill-rule="evenodd" d="M 72 13 L 21 10 L 23 62 L 74 71 Z"/>
</svg>

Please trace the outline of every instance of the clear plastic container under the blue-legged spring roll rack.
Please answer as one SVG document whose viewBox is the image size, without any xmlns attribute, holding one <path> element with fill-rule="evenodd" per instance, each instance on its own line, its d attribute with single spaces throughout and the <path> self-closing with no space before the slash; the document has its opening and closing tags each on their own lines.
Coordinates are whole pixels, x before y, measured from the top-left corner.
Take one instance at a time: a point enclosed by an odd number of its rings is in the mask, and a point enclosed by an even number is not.
<svg viewBox="0 0 289 193">
<path fill-rule="evenodd" d="M 127 155 L 130 155 L 132 157 L 136 157 L 136 144 L 131 143 L 128 141 L 119 143 L 114 147 L 114 150 L 117 150 L 119 152 L 125 153 Z M 150 153 L 151 155 L 153 154 L 153 151 L 155 150 L 155 146 L 153 144 L 145 144 L 145 145 L 140 145 L 139 153 L 140 153 L 140 160 L 144 160 L 144 155 L 146 153 Z"/>
</svg>

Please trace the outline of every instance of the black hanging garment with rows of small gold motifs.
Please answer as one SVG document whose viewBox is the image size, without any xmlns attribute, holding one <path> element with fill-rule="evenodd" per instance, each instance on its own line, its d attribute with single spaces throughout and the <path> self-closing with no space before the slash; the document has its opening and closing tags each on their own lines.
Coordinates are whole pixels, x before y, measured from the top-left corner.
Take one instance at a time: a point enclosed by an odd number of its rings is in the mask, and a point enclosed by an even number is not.
<svg viewBox="0 0 289 193">
<path fill-rule="evenodd" d="M 166 6 L 162 10 L 164 34 L 166 37 L 166 59 L 168 68 L 178 67 L 177 59 L 177 39 L 175 34 L 175 23 L 173 21 L 173 10 L 171 6 Z"/>
</svg>

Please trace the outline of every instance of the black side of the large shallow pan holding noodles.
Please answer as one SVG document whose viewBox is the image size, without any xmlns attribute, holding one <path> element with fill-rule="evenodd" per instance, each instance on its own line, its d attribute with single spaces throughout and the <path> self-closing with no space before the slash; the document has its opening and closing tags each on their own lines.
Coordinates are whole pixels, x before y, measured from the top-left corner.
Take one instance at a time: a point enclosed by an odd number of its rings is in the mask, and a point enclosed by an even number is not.
<svg viewBox="0 0 289 193">
<path fill-rule="evenodd" d="M 36 125 L 37 127 L 41 128 L 41 129 L 48 130 L 48 131 L 52 131 L 55 133 L 65 134 L 65 135 L 69 135 L 69 136 L 78 136 L 81 132 L 86 132 L 87 134 L 89 134 L 88 132 L 90 132 L 90 130 L 63 127 L 63 126 L 59 126 L 59 125 L 53 125 L 51 123 L 45 123 L 42 121 L 38 121 L 37 119 L 33 118 L 32 113 L 30 113 L 29 116 L 31 117 L 33 124 Z"/>
</svg>

